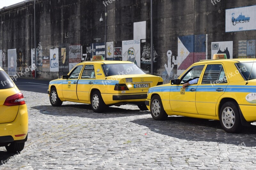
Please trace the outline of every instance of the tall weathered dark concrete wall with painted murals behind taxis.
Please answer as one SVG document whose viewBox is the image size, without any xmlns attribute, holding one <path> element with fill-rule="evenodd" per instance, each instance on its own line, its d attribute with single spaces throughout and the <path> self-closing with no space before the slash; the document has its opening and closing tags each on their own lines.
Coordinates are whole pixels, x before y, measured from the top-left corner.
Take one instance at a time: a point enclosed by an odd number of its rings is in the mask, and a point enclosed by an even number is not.
<svg viewBox="0 0 256 170">
<path fill-rule="evenodd" d="M 215 2 L 153 1 L 154 74 L 163 77 L 165 83 L 177 78 L 199 59 L 210 59 L 212 42 L 218 42 L 216 44 L 220 47 L 217 48 L 222 52 L 228 48 L 225 52 L 232 54 L 231 58 L 242 57 L 243 54 L 238 53 L 238 44 L 246 47 L 252 45 L 255 49 L 255 41 L 251 41 L 256 39 L 255 30 L 226 32 L 225 22 L 226 9 L 256 5 L 256 2 Z M 0 57 L 5 55 L 0 65 L 2 63 L 4 70 L 8 71 L 8 58 L 11 60 L 8 49 L 16 49 L 16 72 L 22 70 L 26 73 L 22 75 L 25 77 L 32 76 L 25 69 L 33 62 L 31 49 L 35 48 L 33 5 L 31 3 L 0 11 Z M 104 12 L 102 0 L 37 0 L 37 77 L 57 78 L 67 74 L 75 63 L 90 60 L 92 55 L 104 54 Z M 107 5 L 107 12 L 107 59 L 127 60 L 128 49 L 132 49 L 137 64 L 149 73 L 150 0 L 112 1 Z M 102 23 L 99 22 L 101 13 L 104 18 Z M 138 37 L 140 41 L 128 41 Z M 136 43 L 129 45 L 124 41 Z M 122 56 L 118 56 L 120 49 L 123 50 Z M 243 55 L 246 56 L 251 57 L 250 54 Z"/>
</svg>

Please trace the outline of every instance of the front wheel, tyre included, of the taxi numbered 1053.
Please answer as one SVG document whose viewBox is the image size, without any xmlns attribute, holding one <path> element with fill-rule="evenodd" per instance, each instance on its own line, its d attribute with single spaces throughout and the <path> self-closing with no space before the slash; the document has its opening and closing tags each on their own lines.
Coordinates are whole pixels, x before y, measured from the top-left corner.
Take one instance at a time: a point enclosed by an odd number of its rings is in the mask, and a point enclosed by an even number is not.
<svg viewBox="0 0 256 170">
<path fill-rule="evenodd" d="M 164 111 L 164 107 L 159 96 L 154 96 L 150 103 L 150 113 L 155 120 L 165 120 L 168 115 Z"/>
</svg>

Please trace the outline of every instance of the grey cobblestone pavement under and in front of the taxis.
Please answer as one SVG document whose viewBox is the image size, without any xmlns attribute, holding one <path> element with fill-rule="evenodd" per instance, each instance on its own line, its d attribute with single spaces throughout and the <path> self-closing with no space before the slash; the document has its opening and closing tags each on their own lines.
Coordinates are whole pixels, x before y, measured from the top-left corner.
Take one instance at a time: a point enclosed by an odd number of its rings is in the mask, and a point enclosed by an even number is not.
<svg viewBox="0 0 256 170">
<path fill-rule="evenodd" d="M 109 107 L 64 102 L 22 91 L 29 113 L 24 150 L 0 147 L 1 169 L 256 169 L 256 124 L 225 133 L 218 121 L 181 116 L 154 121 L 137 106 Z"/>
</svg>

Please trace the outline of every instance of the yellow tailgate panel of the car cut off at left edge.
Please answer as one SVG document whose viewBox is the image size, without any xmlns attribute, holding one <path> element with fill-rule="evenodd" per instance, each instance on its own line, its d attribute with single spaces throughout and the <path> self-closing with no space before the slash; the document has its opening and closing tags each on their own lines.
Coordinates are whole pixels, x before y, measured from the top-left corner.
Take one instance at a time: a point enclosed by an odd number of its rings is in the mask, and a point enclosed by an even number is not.
<svg viewBox="0 0 256 170">
<path fill-rule="evenodd" d="M 0 89 L 0 123 L 12 122 L 16 118 L 19 111 L 19 105 L 6 106 L 4 105 L 4 102 L 8 97 L 15 95 L 17 93 L 18 92 L 15 89 L 15 87 L 8 89 Z"/>
</svg>

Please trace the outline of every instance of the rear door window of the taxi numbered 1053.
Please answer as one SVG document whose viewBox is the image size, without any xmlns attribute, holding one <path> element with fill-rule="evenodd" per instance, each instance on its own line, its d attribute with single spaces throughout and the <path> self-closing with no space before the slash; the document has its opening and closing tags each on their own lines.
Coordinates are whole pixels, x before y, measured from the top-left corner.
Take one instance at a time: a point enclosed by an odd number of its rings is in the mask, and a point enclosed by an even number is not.
<svg viewBox="0 0 256 170">
<path fill-rule="evenodd" d="M 204 71 L 202 84 L 213 83 L 227 83 L 227 78 L 221 64 L 209 64 Z"/>
</svg>

